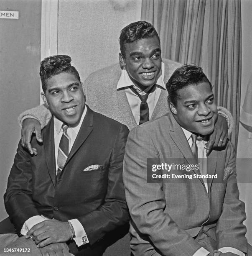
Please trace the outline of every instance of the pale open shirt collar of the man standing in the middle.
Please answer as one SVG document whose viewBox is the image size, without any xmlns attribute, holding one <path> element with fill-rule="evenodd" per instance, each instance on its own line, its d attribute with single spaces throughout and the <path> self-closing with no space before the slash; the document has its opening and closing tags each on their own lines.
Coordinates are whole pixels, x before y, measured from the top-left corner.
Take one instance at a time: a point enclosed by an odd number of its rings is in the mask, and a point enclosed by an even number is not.
<svg viewBox="0 0 252 256">
<path fill-rule="evenodd" d="M 165 64 L 162 62 L 161 64 L 161 70 L 158 74 L 158 80 L 156 82 L 157 85 L 159 85 L 160 87 L 162 87 L 163 89 L 166 90 L 165 88 L 165 82 L 164 82 L 164 75 L 165 75 Z M 121 89 L 124 87 L 130 87 L 132 86 L 134 83 L 132 82 L 132 80 L 130 79 L 130 76 L 128 75 L 126 69 L 122 69 L 121 70 L 121 76 L 120 79 L 117 83 L 117 89 Z M 137 87 L 138 88 L 138 87 Z M 138 88 L 138 90 L 140 90 Z"/>
</svg>

